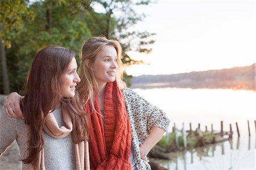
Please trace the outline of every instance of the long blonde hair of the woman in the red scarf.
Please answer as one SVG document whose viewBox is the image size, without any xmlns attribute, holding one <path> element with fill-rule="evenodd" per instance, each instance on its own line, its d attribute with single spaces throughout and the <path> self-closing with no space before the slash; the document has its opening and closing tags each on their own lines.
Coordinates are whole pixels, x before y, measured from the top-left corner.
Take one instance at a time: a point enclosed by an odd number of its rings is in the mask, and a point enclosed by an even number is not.
<svg viewBox="0 0 256 170">
<path fill-rule="evenodd" d="M 124 89 L 126 87 L 125 82 L 122 81 L 123 76 L 123 64 L 121 61 L 122 48 L 118 41 L 108 40 L 103 36 L 93 37 L 86 40 L 82 45 L 80 59 L 81 65 L 79 68 L 79 76 L 81 82 L 77 85 L 77 92 L 84 103 L 91 101 L 94 103 L 94 90 L 98 90 L 98 84 L 94 77 L 92 65 L 96 59 L 98 52 L 101 51 L 106 45 L 111 45 L 117 51 L 117 73 L 115 74 L 115 80 L 118 82 L 119 88 Z M 89 67 L 86 66 L 86 60 L 89 60 Z"/>
</svg>

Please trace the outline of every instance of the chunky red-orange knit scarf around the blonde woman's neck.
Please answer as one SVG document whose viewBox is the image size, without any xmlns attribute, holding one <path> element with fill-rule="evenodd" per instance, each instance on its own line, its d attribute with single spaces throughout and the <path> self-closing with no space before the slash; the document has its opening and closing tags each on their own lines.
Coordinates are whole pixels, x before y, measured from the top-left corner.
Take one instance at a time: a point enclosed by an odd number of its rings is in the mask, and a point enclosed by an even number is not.
<svg viewBox="0 0 256 170">
<path fill-rule="evenodd" d="M 85 109 L 89 118 L 89 152 L 91 169 L 131 169 L 131 129 L 126 112 L 125 98 L 117 82 L 108 82 L 105 89 L 105 106 L 102 115 L 95 96 L 94 107 L 90 102 Z"/>
</svg>

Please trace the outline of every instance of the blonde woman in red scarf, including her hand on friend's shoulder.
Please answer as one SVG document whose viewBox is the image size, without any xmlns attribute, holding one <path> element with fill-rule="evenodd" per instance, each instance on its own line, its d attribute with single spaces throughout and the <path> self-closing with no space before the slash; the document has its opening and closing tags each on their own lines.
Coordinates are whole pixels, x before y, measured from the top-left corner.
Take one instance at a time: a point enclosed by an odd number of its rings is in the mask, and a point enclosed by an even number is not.
<svg viewBox="0 0 256 170">
<path fill-rule="evenodd" d="M 147 154 L 170 123 L 166 114 L 126 88 L 122 81 L 121 45 L 95 37 L 81 51 L 77 91 L 89 119 L 92 169 L 151 169 Z M 17 94 L 9 96 L 9 116 L 22 117 Z M 14 101 L 14 102 L 13 102 Z"/>
</svg>

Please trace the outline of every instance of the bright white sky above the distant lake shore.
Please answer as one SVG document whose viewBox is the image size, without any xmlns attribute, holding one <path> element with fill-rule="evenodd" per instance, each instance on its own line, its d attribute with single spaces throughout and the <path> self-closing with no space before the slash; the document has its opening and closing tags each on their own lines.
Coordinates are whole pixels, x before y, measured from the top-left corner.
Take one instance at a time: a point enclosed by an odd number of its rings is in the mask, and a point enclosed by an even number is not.
<svg viewBox="0 0 256 170">
<path fill-rule="evenodd" d="M 127 74 L 173 74 L 232 68 L 256 62 L 255 1 L 157 1 L 137 7 L 146 18 L 134 30 L 155 32 L 145 64 Z"/>
</svg>

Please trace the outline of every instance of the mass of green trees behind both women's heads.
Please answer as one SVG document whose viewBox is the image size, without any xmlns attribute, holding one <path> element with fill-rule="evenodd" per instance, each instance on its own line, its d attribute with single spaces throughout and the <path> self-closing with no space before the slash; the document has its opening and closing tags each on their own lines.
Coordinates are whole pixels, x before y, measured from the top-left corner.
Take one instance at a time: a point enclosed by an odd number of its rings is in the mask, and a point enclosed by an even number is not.
<svg viewBox="0 0 256 170">
<path fill-rule="evenodd" d="M 135 64 L 127 51 L 150 52 L 153 33 L 134 31 L 144 18 L 134 7 L 150 1 L 45 0 L 8 1 L 0 5 L 1 94 L 23 92 L 35 53 L 46 45 L 60 45 L 77 52 L 91 36 L 104 35 L 121 42 L 123 63 Z M 96 10 L 96 9 L 100 10 Z M 100 12 L 97 12 L 100 11 Z"/>
</svg>

